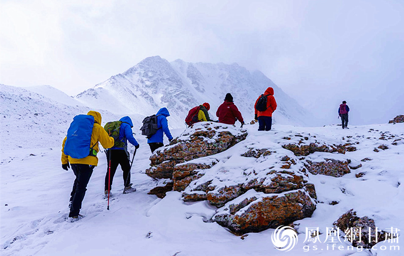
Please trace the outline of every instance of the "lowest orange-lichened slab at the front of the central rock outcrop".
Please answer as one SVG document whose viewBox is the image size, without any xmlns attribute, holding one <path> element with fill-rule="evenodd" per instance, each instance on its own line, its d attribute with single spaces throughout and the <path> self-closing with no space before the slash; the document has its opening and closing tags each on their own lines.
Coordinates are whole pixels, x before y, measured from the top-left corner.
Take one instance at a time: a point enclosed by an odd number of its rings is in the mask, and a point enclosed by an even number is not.
<svg viewBox="0 0 404 256">
<path fill-rule="evenodd" d="M 249 190 L 228 202 L 213 219 L 234 233 L 244 234 L 287 225 L 311 216 L 315 209 L 310 196 L 301 189 L 278 195 Z"/>
</svg>

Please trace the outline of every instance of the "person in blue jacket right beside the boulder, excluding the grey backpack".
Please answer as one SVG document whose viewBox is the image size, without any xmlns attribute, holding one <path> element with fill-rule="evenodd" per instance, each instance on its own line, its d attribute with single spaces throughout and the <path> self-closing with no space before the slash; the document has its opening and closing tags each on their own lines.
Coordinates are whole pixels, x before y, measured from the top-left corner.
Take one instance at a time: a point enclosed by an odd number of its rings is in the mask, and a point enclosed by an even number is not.
<svg viewBox="0 0 404 256">
<path fill-rule="evenodd" d="M 173 139 L 173 136 L 170 133 L 169 130 L 169 124 L 167 123 L 167 117 L 170 116 L 169 110 L 166 108 L 161 108 L 157 114 L 157 127 L 158 130 L 155 134 L 153 134 L 150 139 L 147 139 L 147 143 L 150 146 L 150 150 L 152 153 L 154 150 L 156 150 L 159 147 L 164 146 L 163 144 L 163 132 L 165 136 L 171 141 Z"/>
</svg>

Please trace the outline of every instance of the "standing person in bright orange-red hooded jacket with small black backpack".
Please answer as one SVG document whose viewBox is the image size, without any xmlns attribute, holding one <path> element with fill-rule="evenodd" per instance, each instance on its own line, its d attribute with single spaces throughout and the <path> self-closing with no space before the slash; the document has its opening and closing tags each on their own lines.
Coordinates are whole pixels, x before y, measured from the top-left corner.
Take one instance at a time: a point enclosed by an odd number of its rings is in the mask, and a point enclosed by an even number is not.
<svg viewBox="0 0 404 256">
<path fill-rule="evenodd" d="M 262 97 L 262 99 L 261 99 Z M 260 100 L 261 99 L 261 100 Z M 255 101 L 255 120 L 258 120 L 258 131 L 270 131 L 272 126 L 272 113 L 276 110 L 276 101 L 274 98 L 274 89 L 266 88 L 264 94 L 261 94 Z"/>
</svg>

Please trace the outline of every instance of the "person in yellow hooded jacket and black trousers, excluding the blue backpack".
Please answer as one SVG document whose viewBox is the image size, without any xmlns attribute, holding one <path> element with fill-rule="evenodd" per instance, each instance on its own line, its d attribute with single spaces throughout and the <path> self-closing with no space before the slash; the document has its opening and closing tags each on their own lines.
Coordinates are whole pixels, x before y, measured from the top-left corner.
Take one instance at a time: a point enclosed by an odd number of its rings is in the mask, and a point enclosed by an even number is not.
<svg viewBox="0 0 404 256">
<path fill-rule="evenodd" d="M 99 151 L 98 142 L 104 148 L 111 148 L 114 146 L 114 138 L 110 137 L 108 133 L 101 126 L 101 114 L 96 111 L 89 111 L 87 115 L 94 117 L 94 124 L 91 133 L 90 145 L 93 149 L 94 154 L 88 155 L 84 158 L 73 158 L 70 155 L 64 154 L 64 145 L 66 143 L 67 137 L 64 138 L 62 143 L 62 168 L 64 170 L 69 170 L 70 165 L 72 165 L 72 170 L 76 175 L 76 179 L 73 184 L 73 190 L 70 198 L 70 213 L 69 217 L 78 218 L 80 216 L 81 203 L 83 202 L 85 192 L 87 190 L 87 184 L 90 180 L 92 171 L 98 164 L 98 158 L 96 153 Z"/>
</svg>

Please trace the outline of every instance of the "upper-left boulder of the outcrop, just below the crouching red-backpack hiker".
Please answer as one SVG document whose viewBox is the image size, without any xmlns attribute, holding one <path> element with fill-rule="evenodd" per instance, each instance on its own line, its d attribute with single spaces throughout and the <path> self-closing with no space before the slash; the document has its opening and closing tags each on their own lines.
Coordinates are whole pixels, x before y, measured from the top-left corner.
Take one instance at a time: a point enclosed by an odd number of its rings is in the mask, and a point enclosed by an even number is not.
<svg viewBox="0 0 404 256">
<path fill-rule="evenodd" d="M 195 170 L 210 168 L 217 161 L 210 159 L 207 163 L 178 164 L 225 151 L 246 137 L 246 130 L 240 130 L 234 125 L 195 123 L 171 141 L 169 146 L 157 149 L 150 156 L 151 167 L 146 170 L 146 174 L 157 179 L 173 179 L 175 190 L 181 191 L 194 177 L 200 176 L 196 175 Z"/>
</svg>

